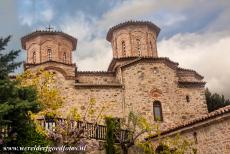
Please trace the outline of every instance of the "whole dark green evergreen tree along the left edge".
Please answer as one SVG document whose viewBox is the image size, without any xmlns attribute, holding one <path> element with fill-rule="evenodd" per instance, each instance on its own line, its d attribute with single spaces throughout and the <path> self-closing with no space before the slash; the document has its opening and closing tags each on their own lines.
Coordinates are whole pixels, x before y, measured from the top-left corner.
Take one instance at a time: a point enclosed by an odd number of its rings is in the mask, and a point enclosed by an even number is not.
<svg viewBox="0 0 230 154">
<path fill-rule="evenodd" d="M 35 132 L 28 114 L 40 110 L 35 89 L 19 87 L 17 81 L 9 79 L 9 73 L 21 64 L 14 62 L 20 50 L 3 54 L 9 40 L 10 36 L 0 39 L 0 127 L 8 131 L 8 136 L 4 138 L 0 133 L 0 139 L 3 140 L 1 144 L 26 146 L 32 142 L 46 145 L 43 136 Z"/>
</svg>

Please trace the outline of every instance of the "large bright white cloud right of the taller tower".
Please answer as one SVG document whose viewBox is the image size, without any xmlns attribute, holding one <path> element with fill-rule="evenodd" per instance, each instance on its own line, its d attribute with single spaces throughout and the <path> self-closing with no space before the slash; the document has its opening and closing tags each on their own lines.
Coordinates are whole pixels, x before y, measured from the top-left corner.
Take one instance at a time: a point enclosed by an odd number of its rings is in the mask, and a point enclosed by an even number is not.
<svg viewBox="0 0 230 154">
<path fill-rule="evenodd" d="M 203 75 L 207 87 L 230 98 L 230 35 L 219 33 L 177 34 L 158 43 L 160 56 Z"/>
</svg>

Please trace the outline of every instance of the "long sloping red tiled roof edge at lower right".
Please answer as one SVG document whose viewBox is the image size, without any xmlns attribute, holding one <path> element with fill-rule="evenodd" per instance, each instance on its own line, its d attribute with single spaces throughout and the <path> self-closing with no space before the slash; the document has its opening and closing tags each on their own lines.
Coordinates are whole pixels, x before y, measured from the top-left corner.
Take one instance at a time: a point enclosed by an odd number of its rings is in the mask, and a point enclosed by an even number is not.
<svg viewBox="0 0 230 154">
<path fill-rule="evenodd" d="M 166 135 L 168 133 L 171 133 L 171 132 L 180 130 L 182 128 L 197 124 L 199 122 L 204 122 L 204 121 L 206 121 L 208 119 L 212 119 L 212 118 L 215 118 L 217 116 L 220 116 L 220 115 L 223 115 L 223 114 L 226 114 L 226 113 L 230 113 L 230 105 L 225 106 L 225 107 L 220 108 L 220 109 L 217 109 L 217 110 L 215 110 L 213 112 L 210 112 L 210 113 L 208 113 L 206 115 L 197 117 L 197 118 L 192 119 L 190 121 L 186 121 L 186 122 L 183 122 L 183 123 L 181 123 L 179 125 L 173 126 L 173 127 L 169 128 L 167 130 L 162 131 L 161 135 Z M 158 134 L 154 134 L 151 137 L 146 138 L 146 140 L 153 139 L 153 138 L 156 138 L 156 137 L 158 137 Z"/>
</svg>

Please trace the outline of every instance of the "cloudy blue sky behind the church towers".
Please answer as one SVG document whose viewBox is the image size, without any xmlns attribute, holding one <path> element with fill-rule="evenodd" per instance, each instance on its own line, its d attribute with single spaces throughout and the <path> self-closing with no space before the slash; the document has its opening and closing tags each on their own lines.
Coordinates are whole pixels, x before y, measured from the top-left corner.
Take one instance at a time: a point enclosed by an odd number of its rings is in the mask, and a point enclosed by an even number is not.
<svg viewBox="0 0 230 154">
<path fill-rule="evenodd" d="M 229 0 L 0 0 L 0 37 L 13 36 L 8 50 L 51 25 L 78 39 L 78 70 L 106 70 L 112 59 L 106 33 L 128 20 L 158 25 L 159 56 L 196 70 L 212 92 L 230 98 Z M 25 59 L 22 50 L 17 60 Z"/>
</svg>

